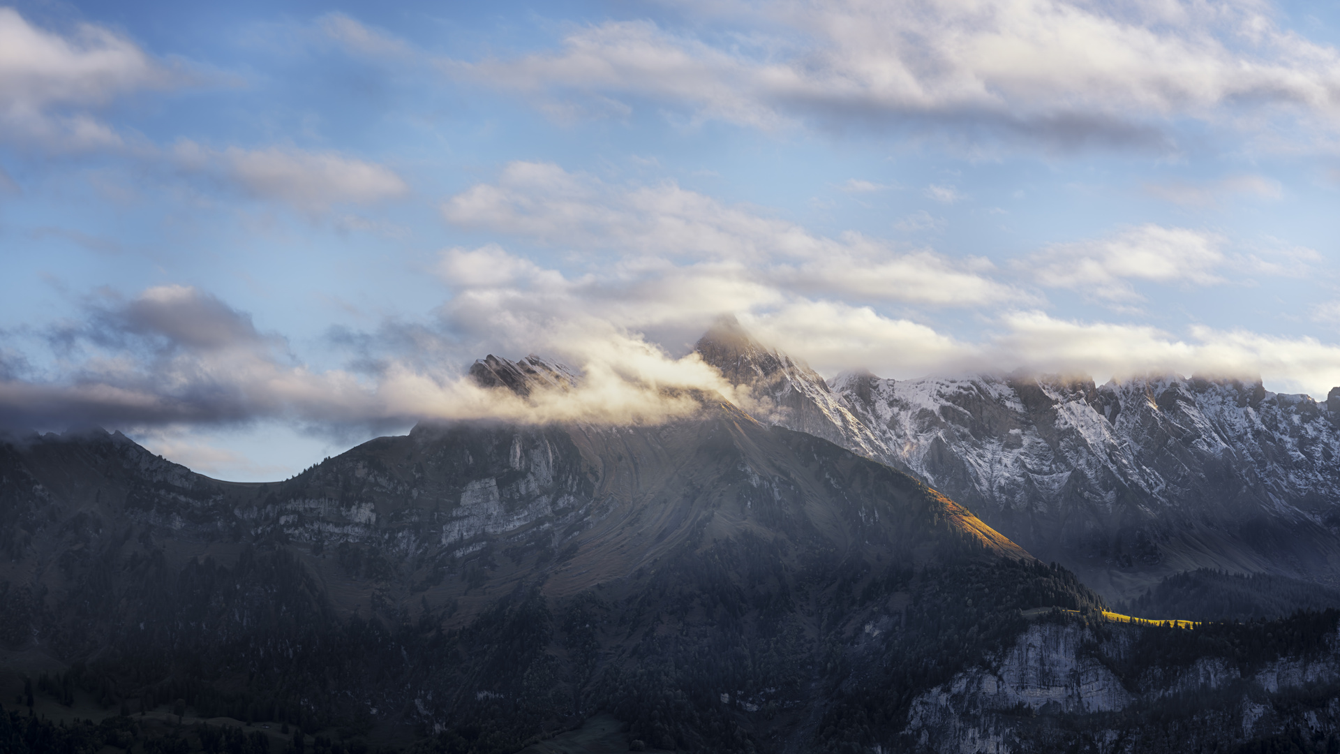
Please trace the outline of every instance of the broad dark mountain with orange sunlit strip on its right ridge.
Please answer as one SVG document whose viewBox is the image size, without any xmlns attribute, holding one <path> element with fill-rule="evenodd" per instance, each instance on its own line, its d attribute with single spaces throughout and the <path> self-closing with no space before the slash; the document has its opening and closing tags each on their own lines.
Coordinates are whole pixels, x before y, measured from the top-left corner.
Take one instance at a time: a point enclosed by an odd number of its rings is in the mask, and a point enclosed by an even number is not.
<svg viewBox="0 0 1340 754">
<path fill-rule="evenodd" d="M 0 468 L 9 656 L 133 714 L 515 751 L 603 710 L 650 747 L 805 750 L 864 688 L 856 730 L 892 735 L 1021 609 L 1099 606 L 917 480 L 729 405 L 421 425 L 273 484 L 100 432 Z"/>
</svg>

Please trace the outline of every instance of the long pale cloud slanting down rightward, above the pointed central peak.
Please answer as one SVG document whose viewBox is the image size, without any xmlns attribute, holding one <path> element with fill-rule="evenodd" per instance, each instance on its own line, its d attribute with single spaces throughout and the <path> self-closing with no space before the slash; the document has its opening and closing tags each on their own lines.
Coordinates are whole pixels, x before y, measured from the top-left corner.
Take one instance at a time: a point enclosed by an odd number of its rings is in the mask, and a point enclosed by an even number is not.
<svg viewBox="0 0 1340 754">
<path fill-rule="evenodd" d="M 615 254 L 623 262 L 610 272 L 602 260 L 607 271 L 598 278 L 618 279 L 623 286 L 649 276 L 681 279 L 685 271 L 671 272 L 655 262 L 679 259 L 710 263 L 712 275 L 721 282 L 725 276 L 775 287 L 777 297 L 824 292 L 935 306 L 1028 298 L 992 279 L 993 267 L 985 260 L 899 251 L 860 233 L 819 236 L 757 208 L 725 205 L 671 181 L 615 185 L 551 164 L 512 162 L 496 184 L 478 184 L 448 199 L 442 213 L 466 228 Z M 498 263 L 486 274 L 501 275 L 512 270 L 508 264 Z M 701 284 L 695 274 L 687 275 Z"/>
</svg>

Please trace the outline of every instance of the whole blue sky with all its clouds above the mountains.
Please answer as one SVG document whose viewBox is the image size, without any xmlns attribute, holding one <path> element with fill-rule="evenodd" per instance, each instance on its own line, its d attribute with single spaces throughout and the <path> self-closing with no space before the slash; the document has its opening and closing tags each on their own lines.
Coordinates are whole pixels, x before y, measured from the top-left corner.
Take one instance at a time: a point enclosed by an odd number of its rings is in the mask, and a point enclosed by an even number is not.
<svg viewBox="0 0 1340 754">
<path fill-rule="evenodd" d="M 279 479 L 421 419 L 825 377 L 1340 385 L 1340 9 L 0 5 L 0 425 Z M 521 404 L 496 353 L 583 388 Z M 561 398 L 561 400 L 560 400 Z"/>
</svg>

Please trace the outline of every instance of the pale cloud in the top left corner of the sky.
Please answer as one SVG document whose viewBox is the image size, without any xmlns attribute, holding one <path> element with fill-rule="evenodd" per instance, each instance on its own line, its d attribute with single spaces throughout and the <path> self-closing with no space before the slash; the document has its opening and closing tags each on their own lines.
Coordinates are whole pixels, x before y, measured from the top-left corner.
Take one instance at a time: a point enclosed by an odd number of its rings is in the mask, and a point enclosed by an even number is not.
<svg viewBox="0 0 1340 754">
<path fill-rule="evenodd" d="M 79 24 L 62 35 L 0 8 L 0 138 L 7 141 L 52 150 L 119 146 L 122 137 L 94 110 L 185 80 L 105 27 Z"/>
</svg>

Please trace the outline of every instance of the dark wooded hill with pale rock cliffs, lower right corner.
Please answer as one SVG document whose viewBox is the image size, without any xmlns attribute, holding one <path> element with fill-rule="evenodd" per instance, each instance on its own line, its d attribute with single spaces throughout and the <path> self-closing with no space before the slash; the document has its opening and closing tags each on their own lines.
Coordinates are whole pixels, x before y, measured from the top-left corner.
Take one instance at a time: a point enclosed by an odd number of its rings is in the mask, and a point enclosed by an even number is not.
<svg viewBox="0 0 1340 754">
<path fill-rule="evenodd" d="M 946 754 L 1048 750 L 1063 737 L 1037 720 L 1057 716 L 1083 719 L 1083 738 L 1095 751 L 1195 751 L 1290 729 L 1306 731 L 1306 739 L 1335 739 L 1340 702 L 1327 696 L 1340 686 L 1340 636 L 1333 625 L 1319 628 L 1312 651 L 1296 656 L 1250 661 L 1167 652 L 1164 663 L 1148 665 L 1138 656 L 1151 640 L 1186 645 L 1185 636 L 1174 636 L 1182 629 L 1030 625 L 1013 647 L 921 694 L 899 743 Z M 1294 707 L 1280 699 L 1289 695 L 1320 703 Z M 1151 710 L 1175 720 L 1175 741 L 1155 726 L 1131 729 L 1132 716 Z"/>
</svg>

